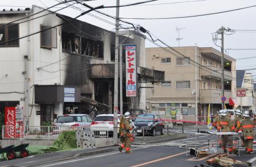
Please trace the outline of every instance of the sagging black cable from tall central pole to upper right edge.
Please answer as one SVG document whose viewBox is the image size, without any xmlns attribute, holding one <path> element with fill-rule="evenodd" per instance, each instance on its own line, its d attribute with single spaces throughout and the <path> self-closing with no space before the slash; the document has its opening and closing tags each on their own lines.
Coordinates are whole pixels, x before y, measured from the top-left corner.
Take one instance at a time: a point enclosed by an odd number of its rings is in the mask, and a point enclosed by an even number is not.
<svg viewBox="0 0 256 167">
<path fill-rule="evenodd" d="M 243 9 L 249 9 L 251 7 L 255 7 L 256 5 L 253 6 L 247 6 L 247 7 L 242 7 L 238 9 L 233 9 L 233 10 L 226 10 L 226 11 L 220 11 L 220 12 L 212 12 L 209 14 L 199 14 L 199 15 L 191 15 L 191 16 L 177 16 L 177 17 L 167 17 L 167 18 L 120 18 L 120 19 L 137 19 L 137 20 L 160 20 L 160 19 L 181 19 L 181 18 L 193 18 L 193 17 L 198 17 L 198 16 L 207 16 L 207 15 L 215 15 L 215 14 L 221 14 L 225 12 L 231 12 L 231 11 L 237 11 L 237 10 L 243 10 Z"/>
</svg>

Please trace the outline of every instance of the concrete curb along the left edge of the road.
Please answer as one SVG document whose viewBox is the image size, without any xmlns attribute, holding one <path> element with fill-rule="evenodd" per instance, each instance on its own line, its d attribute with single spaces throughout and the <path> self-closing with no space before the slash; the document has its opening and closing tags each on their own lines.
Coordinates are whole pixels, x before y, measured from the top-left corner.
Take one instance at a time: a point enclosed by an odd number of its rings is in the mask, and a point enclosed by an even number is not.
<svg viewBox="0 0 256 167">
<path fill-rule="evenodd" d="M 83 157 L 83 156 L 97 155 L 97 154 L 100 154 L 100 153 L 106 153 L 106 152 L 112 152 L 112 151 L 115 151 L 115 149 L 109 148 L 109 149 L 100 149 L 100 150 L 97 150 L 97 151 L 76 153 L 76 154 L 73 155 L 72 157 L 67 157 L 67 158 L 62 158 L 62 159 L 59 159 L 59 160 L 52 160 L 52 161 L 47 161 L 47 162 L 40 162 L 40 163 L 38 163 L 38 164 L 25 165 L 25 166 L 22 166 L 22 167 L 38 166 L 38 165 L 48 164 L 48 163 L 52 163 L 52 162 L 71 160 L 71 159 L 73 159 L 73 158 L 79 158 L 79 157 Z M 7 167 L 7 166 L 6 166 L 6 167 Z M 8 167 L 11 167 L 11 166 L 8 166 Z"/>
</svg>

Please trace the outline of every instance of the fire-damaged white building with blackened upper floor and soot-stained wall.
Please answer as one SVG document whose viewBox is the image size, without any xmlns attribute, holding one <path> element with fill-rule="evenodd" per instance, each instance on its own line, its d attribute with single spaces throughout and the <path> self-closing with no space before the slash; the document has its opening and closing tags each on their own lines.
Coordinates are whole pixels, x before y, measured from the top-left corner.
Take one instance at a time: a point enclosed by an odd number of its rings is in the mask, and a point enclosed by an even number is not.
<svg viewBox="0 0 256 167">
<path fill-rule="evenodd" d="M 67 23 L 69 20 L 72 18 L 38 6 L 0 11 L 2 114 L 6 106 L 20 105 L 24 108 L 24 124 L 39 126 L 63 114 L 113 112 L 115 34 L 77 19 Z M 143 82 L 163 81 L 164 75 L 144 68 L 142 34 L 121 34 L 122 44 L 137 45 L 135 75 L 139 92 L 137 97 L 126 97 L 123 93 L 123 109 L 143 108 Z M 124 85 L 125 80 L 123 92 Z"/>
</svg>

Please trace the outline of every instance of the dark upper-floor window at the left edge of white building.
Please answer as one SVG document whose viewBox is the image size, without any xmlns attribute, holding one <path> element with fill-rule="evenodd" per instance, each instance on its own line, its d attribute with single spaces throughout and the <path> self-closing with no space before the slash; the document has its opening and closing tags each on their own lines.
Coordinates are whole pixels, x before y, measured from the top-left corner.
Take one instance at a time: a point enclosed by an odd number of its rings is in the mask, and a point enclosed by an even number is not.
<svg viewBox="0 0 256 167">
<path fill-rule="evenodd" d="M 1 26 L 1 24 L 0 24 Z M 19 37 L 19 25 L 18 24 L 10 24 L 7 27 L 0 28 L 0 47 L 19 47 L 19 40 L 14 40 Z M 10 41 L 14 40 L 14 41 Z M 5 43 L 10 41 L 9 43 Z M 5 44 L 1 44 L 5 43 Z"/>
</svg>

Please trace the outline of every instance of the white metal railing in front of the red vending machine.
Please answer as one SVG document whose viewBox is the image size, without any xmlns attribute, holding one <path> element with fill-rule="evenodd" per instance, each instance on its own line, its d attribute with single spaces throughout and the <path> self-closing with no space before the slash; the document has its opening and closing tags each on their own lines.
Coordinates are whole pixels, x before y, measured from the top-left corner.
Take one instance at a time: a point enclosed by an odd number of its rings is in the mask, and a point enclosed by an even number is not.
<svg viewBox="0 0 256 167">
<path fill-rule="evenodd" d="M 71 126 L 3 126 L 2 139 L 55 140 L 61 131 L 76 130 Z"/>
</svg>

